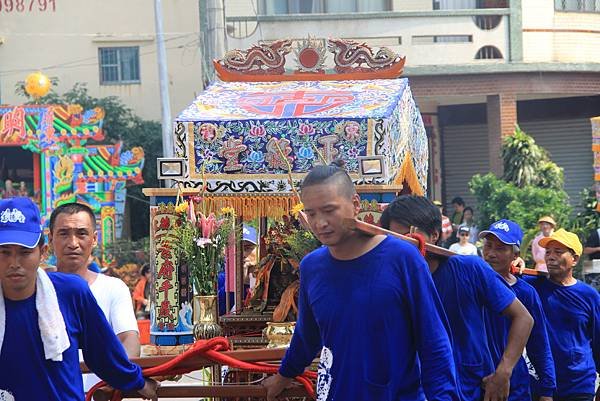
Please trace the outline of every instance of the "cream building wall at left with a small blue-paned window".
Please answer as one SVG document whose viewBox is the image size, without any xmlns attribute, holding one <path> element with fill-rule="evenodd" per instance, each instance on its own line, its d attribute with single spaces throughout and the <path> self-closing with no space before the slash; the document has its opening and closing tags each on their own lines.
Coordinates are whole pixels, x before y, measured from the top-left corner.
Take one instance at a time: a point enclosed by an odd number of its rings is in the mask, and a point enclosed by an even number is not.
<svg viewBox="0 0 600 401">
<path fill-rule="evenodd" d="M 175 115 L 202 90 L 197 0 L 163 1 L 163 32 Z M 118 96 L 137 115 L 160 120 L 153 2 L 7 0 L 0 5 L 0 104 L 24 98 L 15 85 L 35 71 L 65 92 Z"/>
</svg>

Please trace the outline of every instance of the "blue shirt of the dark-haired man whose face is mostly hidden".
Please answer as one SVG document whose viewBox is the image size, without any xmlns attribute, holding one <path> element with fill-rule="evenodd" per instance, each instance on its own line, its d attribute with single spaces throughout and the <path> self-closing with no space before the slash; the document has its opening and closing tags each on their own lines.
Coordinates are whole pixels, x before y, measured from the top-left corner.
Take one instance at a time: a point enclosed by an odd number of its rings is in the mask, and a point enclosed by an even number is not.
<svg viewBox="0 0 600 401">
<path fill-rule="evenodd" d="M 515 294 L 479 256 L 451 256 L 432 277 L 452 330 L 461 399 L 480 400 L 482 379 L 496 370 L 484 311 L 499 315 L 515 300 Z"/>
</svg>

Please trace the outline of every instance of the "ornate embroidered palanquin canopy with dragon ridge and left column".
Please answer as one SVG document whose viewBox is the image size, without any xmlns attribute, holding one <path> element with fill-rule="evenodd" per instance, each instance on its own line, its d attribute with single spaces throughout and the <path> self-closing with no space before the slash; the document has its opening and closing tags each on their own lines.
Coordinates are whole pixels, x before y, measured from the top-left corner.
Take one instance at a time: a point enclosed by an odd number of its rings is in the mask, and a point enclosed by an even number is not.
<svg viewBox="0 0 600 401">
<path fill-rule="evenodd" d="M 193 341 L 189 277 L 165 231 L 181 196 L 199 195 L 205 213 L 231 207 L 242 220 L 279 219 L 298 207 L 294 189 L 306 173 L 338 158 L 366 221 L 377 222 L 398 193 L 426 192 L 428 139 L 408 80 L 399 78 L 403 66 L 386 48 L 315 38 L 261 43 L 215 61 L 220 81 L 174 122 L 175 161 L 185 167 L 177 189 L 144 190 L 156 274 L 151 342 Z"/>
</svg>

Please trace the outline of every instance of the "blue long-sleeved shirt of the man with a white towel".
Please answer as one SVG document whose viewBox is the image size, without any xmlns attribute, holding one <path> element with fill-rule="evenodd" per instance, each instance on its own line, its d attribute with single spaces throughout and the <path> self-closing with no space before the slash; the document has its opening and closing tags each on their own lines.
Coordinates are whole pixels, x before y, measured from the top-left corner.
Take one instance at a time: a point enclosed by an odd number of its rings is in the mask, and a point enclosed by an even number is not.
<svg viewBox="0 0 600 401">
<path fill-rule="evenodd" d="M 82 401 L 78 348 L 88 367 L 112 386 L 144 386 L 140 367 L 131 363 L 88 284 L 74 274 L 49 273 L 71 346 L 63 360 L 46 360 L 38 327 L 35 294 L 22 301 L 4 299 L 6 332 L 0 350 L 0 390 L 16 400 Z"/>
</svg>

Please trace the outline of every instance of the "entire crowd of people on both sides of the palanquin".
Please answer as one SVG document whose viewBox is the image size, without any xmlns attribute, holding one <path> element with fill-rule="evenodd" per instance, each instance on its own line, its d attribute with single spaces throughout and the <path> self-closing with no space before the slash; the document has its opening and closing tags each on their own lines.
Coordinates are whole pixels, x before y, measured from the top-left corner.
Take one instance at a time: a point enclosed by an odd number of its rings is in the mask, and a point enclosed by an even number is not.
<svg viewBox="0 0 600 401">
<path fill-rule="evenodd" d="M 600 399 L 600 294 L 573 277 L 584 253 L 600 252 L 599 238 L 584 248 L 540 218 L 534 243 L 547 276 L 521 278 L 512 269 L 521 227 L 494 222 L 476 234 L 482 256 L 468 254 L 477 228 L 464 202 L 448 222 L 423 196 L 399 196 L 383 211 L 383 228 L 430 244 L 447 240 L 444 225 L 454 225 L 457 255 L 441 257 L 346 226 L 361 204 L 340 166 L 313 168 L 301 198 L 323 246 L 301 262 L 295 333 L 279 373 L 263 382 L 268 400 L 317 355 L 318 401 Z M 149 269 L 134 312 L 123 282 L 90 269 L 98 234 L 87 206 L 53 211 L 51 273 L 39 267 L 47 245 L 35 203 L 1 200 L 0 214 L 0 366 L 11 367 L 0 375 L 0 399 L 81 400 L 99 378 L 82 378 L 80 360 L 115 388 L 156 399 L 158 383 L 129 361 L 140 354 L 136 312 L 148 305 Z M 256 234 L 247 231 L 251 253 Z"/>
</svg>

